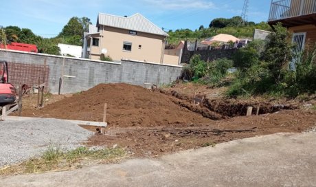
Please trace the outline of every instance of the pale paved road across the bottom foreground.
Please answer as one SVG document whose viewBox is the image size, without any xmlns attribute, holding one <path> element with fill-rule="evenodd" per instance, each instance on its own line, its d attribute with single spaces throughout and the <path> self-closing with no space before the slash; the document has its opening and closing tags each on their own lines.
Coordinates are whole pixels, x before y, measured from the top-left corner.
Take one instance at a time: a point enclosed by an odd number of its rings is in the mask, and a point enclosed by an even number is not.
<svg viewBox="0 0 316 187">
<path fill-rule="evenodd" d="M 0 186 L 316 186 L 316 133 L 267 135 L 159 159 L 0 177 Z"/>
</svg>

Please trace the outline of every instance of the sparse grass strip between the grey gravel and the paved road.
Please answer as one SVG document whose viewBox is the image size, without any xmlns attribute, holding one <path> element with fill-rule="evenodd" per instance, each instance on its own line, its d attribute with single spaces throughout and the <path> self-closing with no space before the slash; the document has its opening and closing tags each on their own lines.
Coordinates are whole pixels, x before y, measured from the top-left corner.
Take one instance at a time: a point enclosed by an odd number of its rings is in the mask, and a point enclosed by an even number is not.
<svg viewBox="0 0 316 187">
<path fill-rule="evenodd" d="M 80 146 L 71 151 L 63 151 L 59 146 L 49 146 L 41 157 L 34 157 L 21 164 L 1 168 L 0 175 L 70 170 L 82 168 L 87 164 L 113 163 L 124 157 L 126 157 L 126 152 L 120 147 L 89 149 Z"/>
</svg>

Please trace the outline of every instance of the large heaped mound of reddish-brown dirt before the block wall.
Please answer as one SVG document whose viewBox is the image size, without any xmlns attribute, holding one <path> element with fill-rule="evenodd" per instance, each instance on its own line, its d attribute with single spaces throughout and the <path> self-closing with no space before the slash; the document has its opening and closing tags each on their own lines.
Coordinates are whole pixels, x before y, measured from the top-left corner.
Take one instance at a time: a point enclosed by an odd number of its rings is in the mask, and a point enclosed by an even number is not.
<svg viewBox="0 0 316 187">
<path fill-rule="evenodd" d="M 108 104 L 106 122 L 111 126 L 159 126 L 168 124 L 205 124 L 203 118 L 170 100 L 170 96 L 139 86 L 101 84 L 49 104 L 41 110 L 24 110 L 23 115 L 71 120 L 102 121 L 104 103 Z"/>
</svg>

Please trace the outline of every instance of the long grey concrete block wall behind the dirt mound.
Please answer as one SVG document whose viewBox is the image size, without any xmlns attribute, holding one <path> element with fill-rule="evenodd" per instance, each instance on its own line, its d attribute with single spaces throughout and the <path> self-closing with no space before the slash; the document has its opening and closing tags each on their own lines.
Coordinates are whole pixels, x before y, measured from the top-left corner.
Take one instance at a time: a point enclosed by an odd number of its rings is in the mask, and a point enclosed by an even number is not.
<svg viewBox="0 0 316 187">
<path fill-rule="evenodd" d="M 49 91 L 58 93 L 63 77 L 62 94 L 76 93 L 100 83 L 169 84 L 177 80 L 182 67 L 135 61 L 104 62 L 88 59 L 0 50 L 0 61 L 49 66 Z M 9 70 L 10 71 L 10 70 Z"/>
</svg>

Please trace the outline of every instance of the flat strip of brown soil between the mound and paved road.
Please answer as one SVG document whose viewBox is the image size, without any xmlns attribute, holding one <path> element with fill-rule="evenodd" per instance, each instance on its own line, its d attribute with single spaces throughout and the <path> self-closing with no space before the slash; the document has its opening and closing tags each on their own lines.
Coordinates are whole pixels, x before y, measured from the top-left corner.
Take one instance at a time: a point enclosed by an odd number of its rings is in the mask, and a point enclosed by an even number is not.
<svg viewBox="0 0 316 187">
<path fill-rule="evenodd" d="M 93 128 L 90 128 L 93 131 Z M 315 131 L 316 112 L 288 110 L 264 115 L 239 116 L 208 125 L 109 128 L 96 133 L 89 146 L 125 147 L 137 157 L 156 157 L 166 153 L 216 146 L 221 142 L 273 133 Z"/>
</svg>

